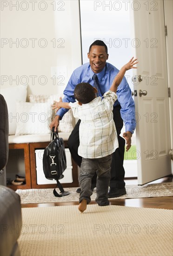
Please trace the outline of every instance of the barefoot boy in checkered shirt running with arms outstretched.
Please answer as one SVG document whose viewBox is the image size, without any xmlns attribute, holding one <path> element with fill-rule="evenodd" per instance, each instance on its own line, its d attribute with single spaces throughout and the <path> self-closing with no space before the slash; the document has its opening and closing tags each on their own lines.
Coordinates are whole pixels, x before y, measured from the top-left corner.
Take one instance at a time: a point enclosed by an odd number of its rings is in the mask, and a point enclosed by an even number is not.
<svg viewBox="0 0 173 256">
<path fill-rule="evenodd" d="M 110 181 L 110 169 L 112 154 L 118 148 L 118 139 L 113 121 L 113 104 L 117 99 L 116 91 L 123 79 L 126 70 L 137 64 L 133 58 L 124 65 L 115 77 L 109 91 L 103 97 L 97 97 L 97 89 L 89 83 L 80 83 L 74 89 L 74 97 L 78 102 L 54 102 L 54 108 L 72 108 L 74 117 L 81 120 L 80 146 L 78 154 L 82 156 L 80 167 L 80 212 L 87 209 L 91 201 L 91 180 L 97 173 L 97 197 L 96 202 L 100 206 L 109 205 L 108 188 Z M 135 62 L 136 61 L 136 62 Z"/>
</svg>

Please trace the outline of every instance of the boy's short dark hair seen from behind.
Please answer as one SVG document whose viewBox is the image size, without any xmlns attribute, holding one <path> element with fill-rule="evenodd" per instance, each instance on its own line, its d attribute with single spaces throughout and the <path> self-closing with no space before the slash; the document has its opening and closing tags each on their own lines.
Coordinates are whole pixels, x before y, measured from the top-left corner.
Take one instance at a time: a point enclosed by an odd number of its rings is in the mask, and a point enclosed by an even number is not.
<svg viewBox="0 0 173 256">
<path fill-rule="evenodd" d="M 82 104 L 87 104 L 95 99 L 95 91 L 89 83 L 79 83 L 74 89 L 74 97 Z"/>
</svg>

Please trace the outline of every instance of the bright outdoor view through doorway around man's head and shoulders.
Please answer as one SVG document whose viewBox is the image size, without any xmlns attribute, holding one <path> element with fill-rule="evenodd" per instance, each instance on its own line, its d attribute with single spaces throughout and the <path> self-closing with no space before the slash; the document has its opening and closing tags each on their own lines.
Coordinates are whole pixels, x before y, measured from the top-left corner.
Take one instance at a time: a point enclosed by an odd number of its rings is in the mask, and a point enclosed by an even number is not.
<svg viewBox="0 0 173 256">
<path fill-rule="evenodd" d="M 118 69 L 131 59 L 130 12 L 123 2 L 80 0 L 82 63 L 88 62 L 89 46 L 97 39 L 106 43 L 108 62 Z M 132 77 L 129 70 L 126 79 L 133 91 Z"/>
</svg>

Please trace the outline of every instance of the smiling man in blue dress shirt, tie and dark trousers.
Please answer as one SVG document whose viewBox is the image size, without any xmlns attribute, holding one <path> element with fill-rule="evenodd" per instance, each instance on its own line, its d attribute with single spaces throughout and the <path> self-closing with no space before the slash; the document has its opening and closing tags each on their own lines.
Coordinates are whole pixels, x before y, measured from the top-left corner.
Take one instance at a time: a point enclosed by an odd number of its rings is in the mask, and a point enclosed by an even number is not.
<svg viewBox="0 0 173 256">
<path fill-rule="evenodd" d="M 101 40 L 96 40 L 89 47 L 88 59 L 89 63 L 85 63 L 73 71 L 73 74 L 68 81 L 67 87 L 64 90 L 65 97 L 63 102 L 74 102 L 74 88 L 81 82 L 88 82 L 93 87 L 96 87 L 100 96 L 109 90 L 113 79 L 118 74 L 119 70 L 106 62 L 108 60 L 106 44 Z M 135 121 L 135 108 L 132 98 L 131 89 L 125 78 L 121 81 L 117 89 L 118 101 L 115 101 L 113 105 L 113 120 L 115 122 L 119 148 L 113 153 L 113 160 L 111 164 L 111 180 L 110 189 L 108 191 L 108 198 L 118 197 L 126 194 L 124 176 L 125 171 L 123 168 L 125 140 L 120 136 L 121 129 L 123 127 L 123 121 L 125 123 L 126 132 L 123 133 L 123 137 L 126 139 L 126 151 L 131 147 L 131 137 L 136 127 Z M 56 113 L 55 120 L 52 121 L 50 128 L 53 126 L 55 130 L 59 125 L 59 121 L 63 115 L 67 112 L 67 109 L 61 108 Z M 97 115 L 97 114 L 96 114 Z M 82 157 L 78 155 L 79 147 L 79 125 L 80 120 L 74 127 L 69 139 L 68 147 L 73 157 L 73 160 L 80 166 Z M 92 179 L 92 189 L 96 185 L 96 176 Z M 78 189 L 80 192 L 80 189 Z"/>
</svg>

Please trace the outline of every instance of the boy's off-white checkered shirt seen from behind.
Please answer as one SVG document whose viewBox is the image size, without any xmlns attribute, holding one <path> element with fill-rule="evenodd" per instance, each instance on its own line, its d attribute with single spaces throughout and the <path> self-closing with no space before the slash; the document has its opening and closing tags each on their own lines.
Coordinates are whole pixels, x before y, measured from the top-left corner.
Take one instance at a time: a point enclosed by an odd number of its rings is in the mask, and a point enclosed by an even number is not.
<svg viewBox="0 0 173 256">
<path fill-rule="evenodd" d="M 100 158 L 111 155 L 119 147 L 115 123 L 113 121 L 113 104 L 117 96 L 107 91 L 102 97 L 82 104 L 70 102 L 74 117 L 80 122 L 80 146 L 78 154 L 84 158 Z"/>
</svg>

